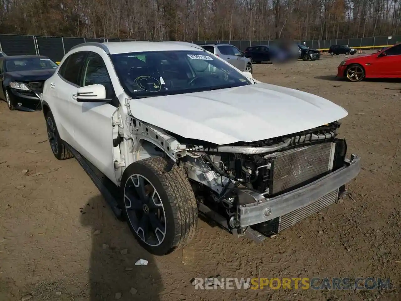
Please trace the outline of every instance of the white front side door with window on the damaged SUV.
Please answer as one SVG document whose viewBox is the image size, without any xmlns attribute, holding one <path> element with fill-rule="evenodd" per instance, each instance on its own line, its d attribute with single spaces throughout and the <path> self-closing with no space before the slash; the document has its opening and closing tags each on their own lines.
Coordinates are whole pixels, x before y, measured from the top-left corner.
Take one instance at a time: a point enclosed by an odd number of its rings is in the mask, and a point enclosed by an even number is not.
<svg viewBox="0 0 401 301">
<path fill-rule="evenodd" d="M 113 159 L 112 117 L 117 111 L 118 100 L 107 67 L 101 55 L 87 52 L 81 72 L 80 85 L 101 84 L 106 88 L 106 98 L 112 102 L 77 102 L 77 88 L 70 91 L 69 114 L 79 116 L 73 125 L 75 149 L 116 183 Z"/>
</svg>

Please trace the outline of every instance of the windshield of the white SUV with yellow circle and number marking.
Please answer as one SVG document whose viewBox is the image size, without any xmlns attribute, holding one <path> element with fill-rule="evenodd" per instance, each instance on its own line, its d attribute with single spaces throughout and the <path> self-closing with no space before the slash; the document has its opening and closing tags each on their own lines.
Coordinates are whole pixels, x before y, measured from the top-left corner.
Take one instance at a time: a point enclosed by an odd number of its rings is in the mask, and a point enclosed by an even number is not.
<svg viewBox="0 0 401 301">
<path fill-rule="evenodd" d="M 251 84 L 241 72 L 206 51 L 148 51 L 110 57 L 122 87 L 132 98 Z"/>
</svg>

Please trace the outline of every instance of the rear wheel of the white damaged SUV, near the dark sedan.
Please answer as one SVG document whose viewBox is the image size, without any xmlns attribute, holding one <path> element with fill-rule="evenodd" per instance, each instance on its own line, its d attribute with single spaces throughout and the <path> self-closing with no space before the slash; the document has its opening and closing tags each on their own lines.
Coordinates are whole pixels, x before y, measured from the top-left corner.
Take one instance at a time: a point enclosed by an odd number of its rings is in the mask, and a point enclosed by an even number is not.
<svg viewBox="0 0 401 301">
<path fill-rule="evenodd" d="M 58 160 L 66 160 L 73 158 L 74 155 L 71 153 L 71 150 L 66 146 L 64 140 L 62 140 L 59 136 L 59 132 L 57 131 L 56 122 L 54 121 L 53 114 L 49 111 L 46 114 L 46 130 L 47 130 L 47 138 L 49 139 L 50 147 L 53 152 L 53 155 Z"/>
</svg>

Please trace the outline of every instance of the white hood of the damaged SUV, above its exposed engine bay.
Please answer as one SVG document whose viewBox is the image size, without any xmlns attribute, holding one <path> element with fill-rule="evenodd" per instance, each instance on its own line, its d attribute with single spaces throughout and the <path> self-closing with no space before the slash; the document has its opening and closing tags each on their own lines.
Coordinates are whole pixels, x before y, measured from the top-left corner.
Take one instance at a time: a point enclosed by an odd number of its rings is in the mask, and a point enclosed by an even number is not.
<svg viewBox="0 0 401 301">
<path fill-rule="evenodd" d="M 219 145 L 294 134 L 348 115 L 319 96 L 267 83 L 131 99 L 129 107 L 143 122 Z"/>
</svg>

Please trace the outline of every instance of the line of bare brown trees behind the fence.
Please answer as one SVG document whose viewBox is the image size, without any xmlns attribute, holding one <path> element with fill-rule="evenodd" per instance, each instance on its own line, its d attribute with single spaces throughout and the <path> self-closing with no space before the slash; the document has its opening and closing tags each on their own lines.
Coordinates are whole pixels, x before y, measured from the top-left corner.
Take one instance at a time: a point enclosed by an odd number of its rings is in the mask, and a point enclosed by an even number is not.
<svg viewBox="0 0 401 301">
<path fill-rule="evenodd" d="M 399 35 L 397 0 L 0 0 L 0 33 L 145 40 Z"/>
</svg>

